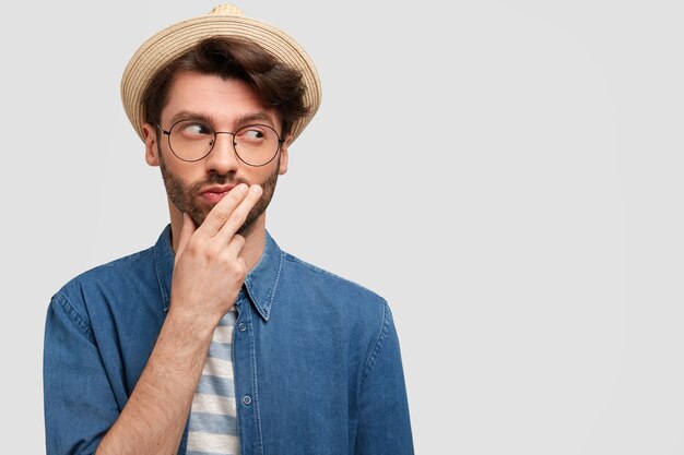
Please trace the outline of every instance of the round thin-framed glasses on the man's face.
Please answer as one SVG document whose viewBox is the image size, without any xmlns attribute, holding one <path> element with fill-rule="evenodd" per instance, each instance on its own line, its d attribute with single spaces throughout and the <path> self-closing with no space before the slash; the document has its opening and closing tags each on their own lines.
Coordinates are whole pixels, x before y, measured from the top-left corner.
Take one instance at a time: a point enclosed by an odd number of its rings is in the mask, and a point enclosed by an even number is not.
<svg viewBox="0 0 684 455">
<path fill-rule="evenodd" d="M 266 166 L 275 158 L 283 140 L 268 124 L 248 124 L 234 133 L 214 131 L 201 120 L 178 120 L 168 131 L 157 128 L 168 136 L 168 147 L 178 159 L 199 161 L 211 153 L 217 134 L 233 136 L 233 149 L 240 161 L 248 166 Z"/>
</svg>

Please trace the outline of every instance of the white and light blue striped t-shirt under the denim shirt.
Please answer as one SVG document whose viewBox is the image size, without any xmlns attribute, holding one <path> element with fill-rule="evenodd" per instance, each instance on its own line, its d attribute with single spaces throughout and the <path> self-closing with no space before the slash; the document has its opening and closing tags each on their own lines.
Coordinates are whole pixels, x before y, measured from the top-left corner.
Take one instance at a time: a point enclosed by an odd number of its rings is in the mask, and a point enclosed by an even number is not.
<svg viewBox="0 0 684 455">
<path fill-rule="evenodd" d="M 202 376 L 192 398 L 188 455 L 237 455 L 233 327 L 235 307 L 214 331 Z"/>
</svg>

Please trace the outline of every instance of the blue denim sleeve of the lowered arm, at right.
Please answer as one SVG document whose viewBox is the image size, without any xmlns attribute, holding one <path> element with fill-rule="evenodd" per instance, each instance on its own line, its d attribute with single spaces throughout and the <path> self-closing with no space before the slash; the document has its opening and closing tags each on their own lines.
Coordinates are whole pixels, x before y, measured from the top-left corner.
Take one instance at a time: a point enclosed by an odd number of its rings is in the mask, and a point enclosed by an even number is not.
<svg viewBox="0 0 684 455">
<path fill-rule="evenodd" d="M 387 303 L 362 375 L 358 405 L 355 455 L 413 455 L 399 338 Z"/>
</svg>

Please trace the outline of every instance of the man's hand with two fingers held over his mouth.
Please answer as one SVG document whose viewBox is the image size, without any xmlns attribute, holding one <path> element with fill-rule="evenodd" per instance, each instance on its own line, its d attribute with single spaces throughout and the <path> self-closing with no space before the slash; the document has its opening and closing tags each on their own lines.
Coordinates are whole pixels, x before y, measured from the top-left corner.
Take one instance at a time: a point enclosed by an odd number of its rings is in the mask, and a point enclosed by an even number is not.
<svg viewBox="0 0 684 455">
<path fill-rule="evenodd" d="M 188 214 L 182 215 L 169 314 L 187 316 L 213 331 L 233 307 L 247 275 L 240 256 L 245 239 L 236 232 L 261 193 L 258 184 L 235 187 L 199 228 Z"/>
</svg>

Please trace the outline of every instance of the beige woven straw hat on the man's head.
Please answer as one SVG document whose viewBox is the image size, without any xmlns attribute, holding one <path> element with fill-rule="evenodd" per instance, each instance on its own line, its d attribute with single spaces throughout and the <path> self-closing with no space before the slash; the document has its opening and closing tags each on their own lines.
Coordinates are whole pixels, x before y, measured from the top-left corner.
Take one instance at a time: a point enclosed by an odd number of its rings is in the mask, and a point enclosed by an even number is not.
<svg viewBox="0 0 684 455">
<path fill-rule="evenodd" d="M 283 63 L 302 72 L 306 87 L 304 103 L 309 107 L 309 113 L 292 125 L 292 140 L 308 124 L 318 110 L 321 98 L 320 80 L 309 56 L 279 28 L 245 17 L 237 7 L 220 4 L 207 15 L 179 22 L 157 33 L 128 62 L 121 77 L 121 99 L 126 115 L 140 139 L 143 139 L 141 127 L 144 122 L 142 96 L 152 77 L 199 41 L 221 36 L 249 39 Z"/>
</svg>

